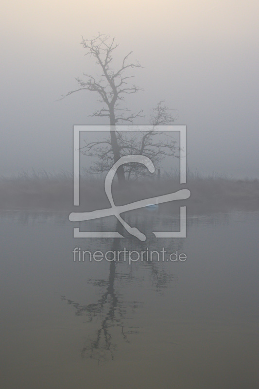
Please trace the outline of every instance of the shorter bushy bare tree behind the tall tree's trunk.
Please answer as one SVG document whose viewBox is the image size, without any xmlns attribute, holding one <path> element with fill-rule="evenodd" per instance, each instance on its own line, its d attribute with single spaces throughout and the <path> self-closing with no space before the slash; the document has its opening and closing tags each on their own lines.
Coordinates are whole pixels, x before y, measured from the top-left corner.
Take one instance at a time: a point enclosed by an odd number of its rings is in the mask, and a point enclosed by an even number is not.
<svg viewBox="0 0 259 389">
<path fill-rule="evenodd" d="M 116 137 L 120 156 L 138 154 L 149 157 L 155 168 L 160 167 L 162 159 L 166 156 L 179 158 L 179 147 L 176 145 L 176 141 L 168 132 L 157 129 L 158 125 L 173 122 L 174 118 L 170 111 L 161 101 L 152 110 L 149 130 L 134 131 L 136 126 L 133 127 L 133 130 L 129 126 L 129 131 L 117 131 Z M 89 173 L 103 173 L 110 170 L 114 163 L 113 148 L 109 137 L 86 142 L 86 145 L 81 148 L 81 152 L 86 156 L 97 158 L 87 169 Z M 129 163 L 124 165 L 124 175 L 129 180 L 147 176 L 150 173 L 142 164 Z"/>
</svg>

